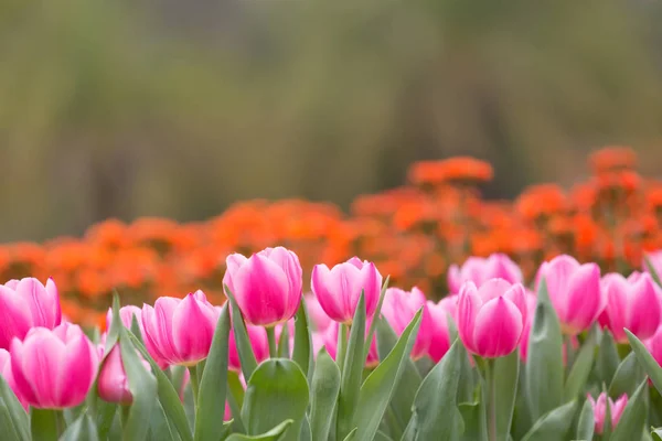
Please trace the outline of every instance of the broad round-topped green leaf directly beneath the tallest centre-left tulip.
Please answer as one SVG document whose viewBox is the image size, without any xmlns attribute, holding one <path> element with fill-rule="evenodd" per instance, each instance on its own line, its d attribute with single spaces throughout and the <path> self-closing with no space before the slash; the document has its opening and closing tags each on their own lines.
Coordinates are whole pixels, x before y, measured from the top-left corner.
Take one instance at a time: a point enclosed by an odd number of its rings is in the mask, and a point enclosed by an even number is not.
<svg viewBox="0 0 662 441">
<path fill-rule="evenodd" d="M 284 440 L 296 441 L 308 407 L 308 383 L 298 364 L 287 358 L 263 362 L 250 376 L 242 420 L 248 434 L 260 434 L 291 419 Z"/>
</svg>

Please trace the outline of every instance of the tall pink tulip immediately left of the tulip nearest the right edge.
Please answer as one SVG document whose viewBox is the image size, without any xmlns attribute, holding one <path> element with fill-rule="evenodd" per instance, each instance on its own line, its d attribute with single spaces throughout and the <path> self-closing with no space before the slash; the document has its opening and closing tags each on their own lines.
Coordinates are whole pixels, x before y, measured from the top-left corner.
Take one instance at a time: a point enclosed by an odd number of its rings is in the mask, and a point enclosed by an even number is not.
<svg viewBox="0 0 662 441">
<path fill-rule="evenodd" d="M 596 263 L 579 265 L 570 256 L 558 256 L 541 266 L 538 287 L 542 278 L 564 334 L 577 335 L 588 330 L 605 309 L 607 298 L 600 289 L 600 269 Z"/>
</svg>

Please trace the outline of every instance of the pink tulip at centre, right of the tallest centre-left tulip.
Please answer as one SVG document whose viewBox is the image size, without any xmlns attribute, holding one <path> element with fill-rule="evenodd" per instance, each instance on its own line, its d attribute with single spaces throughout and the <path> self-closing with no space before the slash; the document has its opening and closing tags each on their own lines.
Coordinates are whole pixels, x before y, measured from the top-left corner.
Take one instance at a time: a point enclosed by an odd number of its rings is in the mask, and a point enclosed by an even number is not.
<svg viewBox="0 0 662 441">
<path fill-rule="evenodd" d="M 366 316 L 374 315 L 380 301 L 382 275 L 374 263 L 353 257 L 331 269 L 325 265 L 316 265 L 311 287 L 320 305 L 332 320 L 350 324 L 362 292 Z"/>
</svg>

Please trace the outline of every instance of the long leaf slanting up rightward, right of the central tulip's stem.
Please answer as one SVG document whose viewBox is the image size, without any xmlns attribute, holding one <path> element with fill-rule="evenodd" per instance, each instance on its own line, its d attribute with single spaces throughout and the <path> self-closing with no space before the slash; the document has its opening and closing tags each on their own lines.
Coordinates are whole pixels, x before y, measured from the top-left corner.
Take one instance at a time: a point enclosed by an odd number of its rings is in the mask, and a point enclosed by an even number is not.
<svg viewBox="0 0 662 441">
<path fill-rule="evenodd" d="M 399 340 L 384 361 L 367 376 L 359 396 L 354 421 L 357 424 L 356 439 L 372 440 L 402 378 L 405 362 L 414 347 L 420 326 L 420 309 L 412 319 Z"/>
</svg>

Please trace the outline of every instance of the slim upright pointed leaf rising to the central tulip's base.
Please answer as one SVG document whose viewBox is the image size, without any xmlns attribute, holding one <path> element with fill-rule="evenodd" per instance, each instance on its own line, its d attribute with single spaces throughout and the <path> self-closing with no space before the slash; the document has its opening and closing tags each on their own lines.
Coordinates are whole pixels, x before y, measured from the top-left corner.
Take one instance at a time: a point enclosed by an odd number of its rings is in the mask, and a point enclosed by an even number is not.
<svg viewBox="0 0 662 441">
<path fill-rule="evenodd" d="M 345 352 L 344 366 L 340 383 L 340 395 L 338 396 L 338 420 L 335 422 L 335 434 L 339 438 L 346 437 L 354 428 L 354 411 L 359 402 L 359 391 L 363 378 L 365 357 L 363 346 L 365 345 L 365 294 L 362 292 L 356 303 L 356 311 L 352 320 L 350 340 Z"/>
</svg>

